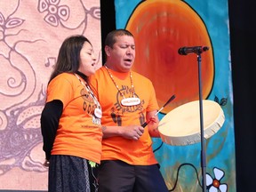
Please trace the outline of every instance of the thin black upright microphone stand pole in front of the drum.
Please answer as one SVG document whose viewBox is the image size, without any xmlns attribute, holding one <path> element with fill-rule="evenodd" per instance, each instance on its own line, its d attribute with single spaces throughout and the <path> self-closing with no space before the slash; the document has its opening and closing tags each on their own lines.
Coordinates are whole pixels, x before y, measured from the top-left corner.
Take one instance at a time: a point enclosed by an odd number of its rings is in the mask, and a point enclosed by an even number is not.
<svg viewBox="0 0 256 192">
<path fill-rule="evenodd" d="M 204 147 L 204 117 L 203 117 L 203 97 L 202 97 L 202 80 L 201 80 L 201 53 L 197 54 L 198 63 L 198 84 L 199 84 L 199 110 L 200 110 L 200 132 L 201 132 L 201 168 L 202 168 L 202 181 L 203 192 L 206 192 L 206 156 Z"/>
</svg>

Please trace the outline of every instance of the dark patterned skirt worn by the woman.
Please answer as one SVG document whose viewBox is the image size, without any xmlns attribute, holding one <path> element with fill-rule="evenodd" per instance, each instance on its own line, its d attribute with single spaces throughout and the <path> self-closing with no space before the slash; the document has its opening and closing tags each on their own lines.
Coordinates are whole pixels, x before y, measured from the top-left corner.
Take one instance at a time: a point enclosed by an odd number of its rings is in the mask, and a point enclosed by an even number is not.
<svg viewBox="0 0 256 192">
<path fill-rule="evenodd" d="M 98 164 L 77 156 L 51 156 L 49 192 L 98 192 Z"/>
</svg>

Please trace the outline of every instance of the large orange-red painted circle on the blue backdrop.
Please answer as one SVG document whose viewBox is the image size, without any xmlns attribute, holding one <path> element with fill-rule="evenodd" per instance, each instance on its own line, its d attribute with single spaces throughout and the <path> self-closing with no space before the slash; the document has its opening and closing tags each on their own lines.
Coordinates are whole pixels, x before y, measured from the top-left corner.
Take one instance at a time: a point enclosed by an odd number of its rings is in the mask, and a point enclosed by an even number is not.
<svg viewBox="0 0 256 192">
<path fill-rule="evenodd" d="M 198 62 L 196 53 L 178 54 L 183 46 L 208 46 L 201 54 L 202 96 L 212 90 L 214 62 L 212 43 L 204 21 L 183 1 L 148 0 L 139 4 L 127 22 L 136 43 L 132 69 L 147 76 L 154 84 L 161 108 L 175 94 L 176 99 L 163 109 L 199 100 Z"/>
</svg>

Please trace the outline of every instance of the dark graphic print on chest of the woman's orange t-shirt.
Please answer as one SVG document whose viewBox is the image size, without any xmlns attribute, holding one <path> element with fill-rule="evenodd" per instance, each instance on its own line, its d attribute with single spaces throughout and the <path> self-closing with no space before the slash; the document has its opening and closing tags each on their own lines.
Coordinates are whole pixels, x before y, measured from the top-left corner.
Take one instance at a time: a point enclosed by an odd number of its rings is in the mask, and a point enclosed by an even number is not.
<svg viewBox="0 0 256 192">
<path fill-rule="evenodd" d="M 95 104 L 91 94 L 84 90 L 84 88 L 80 92 L 84 103 L 83 103 L 83 109 L 85 112 L 87 112 L 90 116 L 92 116 L 92 123 L 93 124 L 100 124 L 101 119 L 94 115 L 95 108 L 97 108 L 97 105 Z"/>
</svg>

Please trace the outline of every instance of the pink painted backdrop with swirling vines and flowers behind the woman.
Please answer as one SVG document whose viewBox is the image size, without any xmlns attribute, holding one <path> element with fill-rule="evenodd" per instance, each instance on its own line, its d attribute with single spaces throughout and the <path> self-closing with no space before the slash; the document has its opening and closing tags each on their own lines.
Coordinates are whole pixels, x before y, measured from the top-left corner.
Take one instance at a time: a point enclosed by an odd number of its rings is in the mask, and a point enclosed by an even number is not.
<svg viewBox="0 0 256 192">
<path fill-rule="evenodd" d="M 87 36 L 101 66 L 99 0 L 0 1 L 0 190 L 46 190 L 40 115 L 62 41 Z"/>
</svg>

